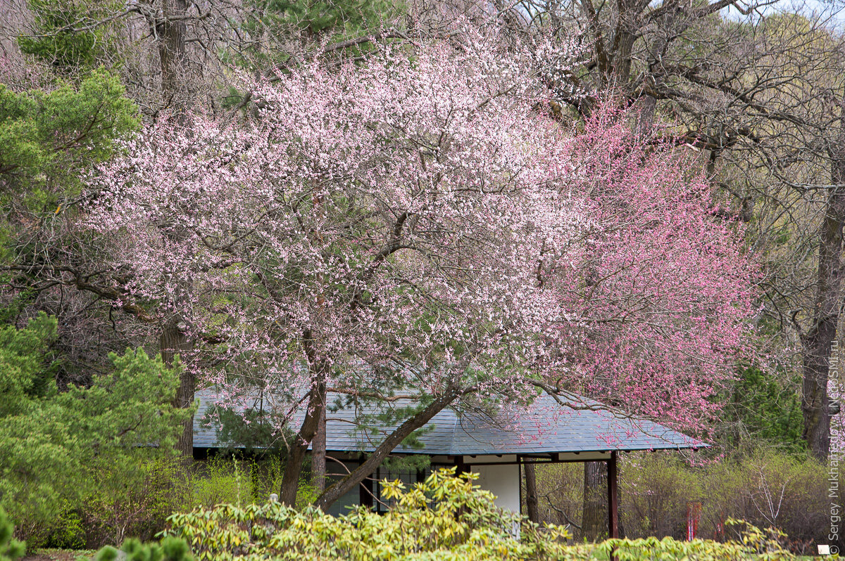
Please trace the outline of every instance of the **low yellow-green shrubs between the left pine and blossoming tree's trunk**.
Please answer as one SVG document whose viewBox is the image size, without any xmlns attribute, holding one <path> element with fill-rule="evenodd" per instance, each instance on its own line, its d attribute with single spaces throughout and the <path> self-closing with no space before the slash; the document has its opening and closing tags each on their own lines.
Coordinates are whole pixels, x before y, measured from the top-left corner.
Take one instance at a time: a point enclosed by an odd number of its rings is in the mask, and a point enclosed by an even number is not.
<svg viewBox="0 0 845 561">
<path fill-rule="evenodd" d="M 101 548 L 128 538 L 149 541 L 174 512 L 266 501 L 278 491 L 283 467 L 277 457 L 245 461 L 215 456 L 194 462 L 162 455 L 155 448 L 132 450 L 120 458 L 91 458 L 84 471 L 65 474 L 75 489 L 64 495 L 73 500 L 59 496 L 59 503 L 35 501 L 15 508 L 16 520 L 25 524 L 18 534 L 37 548 Z M 315 497 L 314 489 L 303 482 L 297 506 Z"/>
</svg>

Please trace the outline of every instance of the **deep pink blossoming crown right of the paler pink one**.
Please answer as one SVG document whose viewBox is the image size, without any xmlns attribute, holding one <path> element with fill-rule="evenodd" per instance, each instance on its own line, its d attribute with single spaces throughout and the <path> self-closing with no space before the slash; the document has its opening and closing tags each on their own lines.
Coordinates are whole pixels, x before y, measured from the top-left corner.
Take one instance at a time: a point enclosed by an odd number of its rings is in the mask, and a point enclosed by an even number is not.
<svg viewBox="0 0 845 561">
<path fill-rule="evenodd" d="M 642 143 L 626 117 L 602 111 L 571 147 L 590 226 L 576 255 L 546 266 L 570 320 L 556 344 L 579 366 L 559 383 L 706 429 L 735 360 L 755 354 L 748 320 L 758 271 L 740 225 L 717 218 L 709 187 L 684 172 L 695 165 Z"/>
</svg>

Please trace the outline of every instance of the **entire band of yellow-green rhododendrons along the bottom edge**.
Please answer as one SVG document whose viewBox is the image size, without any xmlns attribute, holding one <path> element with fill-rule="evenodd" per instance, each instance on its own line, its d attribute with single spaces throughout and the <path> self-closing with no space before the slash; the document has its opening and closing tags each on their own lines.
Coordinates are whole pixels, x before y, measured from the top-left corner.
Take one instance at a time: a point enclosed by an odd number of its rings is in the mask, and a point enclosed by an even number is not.
<svg viewBox="0 0 845 561">
<path fill-rule="evenodd" d="M 159 545 L 124 544 L 130 560 L 182 561 L 188 544 L 200 560 L 258 561 L 281 559 L 558 559 L 586 561 L 739 561 L 739 559 L 793 559 L 782 548 L 776 530 L 760 531 L 742 521 L 738 542 L 694 540 L 613 539 L 593 544 L 567 543 L 570 535 L 560 526 L 538 526 L 493 503 L 493 495 L 473 480 L 476 475 L 440 470 L 411 488 L 399 481 L 384 481 L 384 498 L 391 508 L 379 515 L 363 507 L 349 515 L 325 515 L 313 507 L 293 509 L 279 503 L 239 507 L 220 504 L 172 515 L 171 528 L 162 532 Z M 521 531 L 517 535 L 517 528 Z M 168 557 L 167 551 L 175 551 Z M 117 550 L 104 548 L 95 561 L 113 561 Z M 181 557 L 180 557 L 181 556 Z"/>
</svg>

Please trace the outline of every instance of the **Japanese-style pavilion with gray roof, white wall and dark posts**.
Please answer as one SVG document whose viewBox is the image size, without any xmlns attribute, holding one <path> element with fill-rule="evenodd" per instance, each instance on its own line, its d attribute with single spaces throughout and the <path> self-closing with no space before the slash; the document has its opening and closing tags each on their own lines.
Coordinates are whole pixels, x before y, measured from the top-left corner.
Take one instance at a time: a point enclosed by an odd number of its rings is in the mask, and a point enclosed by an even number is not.
<svg viewBox="0 0 845 561">
<path fill-rule="evenodd" d="M 201 419 L 214 407 L 215 391 L 196 394 L 199 411 L 194 416 L 194 456 L 204 457 L 215 450 L 232 448 L 219 440 L 216 428 L 202 426 Z M 331 403 L 342 396 L 328 396 Z M 341 400 L 338 400 L 341 402 Z M 563 402 L 563 403 L 562 403 Z M 361 429 L 357 419 L 367 407 L 341 407 L 326 416 L 327 472 L 332 477 L 346 475 L 363 457 L 375 450 L 381 438 L 393 427 L 373 435 Z M 297 420 L 294 418 L 294 424 Z M 522 467 L 528 463 L 605 461 L 608 466 L 608 536 L 619 537 L 617 457 L 633 450 L 696 450 L 708 446 L 646 419 L 609 411 L 598 402 L 571 396 L 571 402 L 543 393 L 530 407 L 502 411 L 496 415 L 456 413 L 444 409 L 435 415 L 418 438 L 421 447 L 396 448 L 393 455 L 425 454 L 431 467 L 457 467 L 458 471 L 479 474 L 477 483 L 496 495 L 502 508 L 521 512 Z M 237 447 L 237 446 L 235 446 Z M 341 514 L 354 504 L 367 504 L 383 510 L 378 481 L 386 477 L 414 483 L 423 472 L 388 472 L 379 468 L 356 491 L 332 504 L 330 514 Z"/>
</svg>

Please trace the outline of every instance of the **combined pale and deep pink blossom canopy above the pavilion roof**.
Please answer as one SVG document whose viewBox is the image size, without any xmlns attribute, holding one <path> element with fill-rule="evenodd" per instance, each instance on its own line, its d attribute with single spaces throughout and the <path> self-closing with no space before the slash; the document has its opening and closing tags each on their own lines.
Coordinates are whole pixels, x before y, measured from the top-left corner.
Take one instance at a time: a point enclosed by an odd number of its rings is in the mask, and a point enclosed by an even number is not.
<svg viewBox="0 0 845 561">
<path fill-rule="evenodd" d="M 501 45 L 242 78 L 253 116 L 148 128 L 87 179 L 79 227 L 128 298 L 185 318 L 223 401 L 538 380 L 698 427 L 744 350 L 741 233 L 624 115 L 548 117 L 543 65 L 574 51 Z"/>
</svg>

